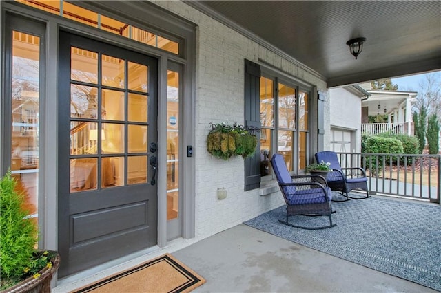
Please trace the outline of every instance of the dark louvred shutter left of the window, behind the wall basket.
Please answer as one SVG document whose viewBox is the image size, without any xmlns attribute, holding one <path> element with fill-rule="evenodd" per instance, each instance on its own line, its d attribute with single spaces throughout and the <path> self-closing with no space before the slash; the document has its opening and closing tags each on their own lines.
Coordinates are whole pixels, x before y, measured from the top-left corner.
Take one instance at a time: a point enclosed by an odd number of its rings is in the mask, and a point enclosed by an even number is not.
<svg viewBox="0 0 441 293">
<path fill-rule="evenodd" d="M 245 126 L 260 129 L 260 66 L 245 60 Z M 257 151 L 245 160 L 245 191 L 260 187 L 260 133 Z"/>
</svg>

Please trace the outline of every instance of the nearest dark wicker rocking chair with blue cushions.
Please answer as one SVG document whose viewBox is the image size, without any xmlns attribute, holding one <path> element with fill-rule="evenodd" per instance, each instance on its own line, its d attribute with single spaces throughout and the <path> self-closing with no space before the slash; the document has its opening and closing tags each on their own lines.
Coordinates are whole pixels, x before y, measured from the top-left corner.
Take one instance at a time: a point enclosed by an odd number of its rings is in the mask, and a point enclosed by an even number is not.
<svg viewBox="0 0 441 293">
<path fill-rule="evenodd" d="M 337 225 L 332 224 L 331 188 L 313 180 L 314 177 L 320 177 L 322 180 L 325 180 L 325 178 L 320 175 L 289 175 L 285 160 L 283 160 L 283 156 L 280 154 L 273 155 L 271 165 L 287 205 L 287 219 L 286 221 L 279 219 L 280 223 L 310 230 L 331 228 Z M 288 221 L 289 217 L 294 215 L 327 215 L 329 217 L 329 225 L 320 227 L 297 226 Z"/>
</svg>

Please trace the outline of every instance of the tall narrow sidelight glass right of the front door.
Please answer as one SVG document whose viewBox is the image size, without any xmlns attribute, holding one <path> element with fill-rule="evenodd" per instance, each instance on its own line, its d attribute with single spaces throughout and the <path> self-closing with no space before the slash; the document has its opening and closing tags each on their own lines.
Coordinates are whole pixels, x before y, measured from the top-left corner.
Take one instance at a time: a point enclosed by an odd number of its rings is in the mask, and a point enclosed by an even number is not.
<svg viewBox="0 0 441 293">
<path fill-rule="evenodd" d="M 178 217 L 179 73 L 167 71 L 167 219 Z"/>
</svg>

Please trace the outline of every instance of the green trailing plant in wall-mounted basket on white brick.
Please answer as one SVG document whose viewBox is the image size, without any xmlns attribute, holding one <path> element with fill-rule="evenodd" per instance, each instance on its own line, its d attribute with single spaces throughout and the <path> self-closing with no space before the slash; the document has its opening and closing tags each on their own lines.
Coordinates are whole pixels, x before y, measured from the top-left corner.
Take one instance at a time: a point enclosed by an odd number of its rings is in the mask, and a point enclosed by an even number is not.
<svg viewBox="0 0 441 293">
<path fill-rule="evenodd" d="M 256 135 L 237 124 L 212 124 L 212 130 L 207 135 L 207 151 L 224 160 L 234 155 L 248 158 L 254 154 L 256 146 Z"/>
</svg>

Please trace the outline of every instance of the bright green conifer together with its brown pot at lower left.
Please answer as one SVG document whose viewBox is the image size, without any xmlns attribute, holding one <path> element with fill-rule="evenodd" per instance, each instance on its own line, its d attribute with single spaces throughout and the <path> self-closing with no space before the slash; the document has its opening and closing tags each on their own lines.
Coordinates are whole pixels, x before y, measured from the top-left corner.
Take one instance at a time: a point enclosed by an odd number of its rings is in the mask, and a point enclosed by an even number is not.
<svg viewBox="0 0 441 293">
<path fill-rule="evenodd" d="M 10 171 L 0 180 L 0 290 L 50 292 L 59 254 L 36 248 L 37 222 L 23 210 L 25 196 L 16 183 Z"/>
</svg>

